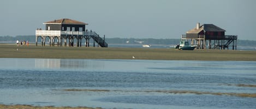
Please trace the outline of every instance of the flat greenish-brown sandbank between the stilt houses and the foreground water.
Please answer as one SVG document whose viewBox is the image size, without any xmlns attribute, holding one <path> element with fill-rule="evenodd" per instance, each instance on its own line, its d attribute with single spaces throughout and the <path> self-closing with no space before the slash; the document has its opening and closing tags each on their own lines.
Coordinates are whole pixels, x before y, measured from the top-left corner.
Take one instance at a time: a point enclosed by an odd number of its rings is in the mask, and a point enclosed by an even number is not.
<svg viewBox="0 0 256 109">
<path fill-rule="evenodd" d="M 34 44 L 17 47 L 16 44 L 0 44 L 0 58 L 256 61 L 256 51 L 215 49 L 177 50 L 174 48 L 42 47 L 35 46 Z"/>
</svg>

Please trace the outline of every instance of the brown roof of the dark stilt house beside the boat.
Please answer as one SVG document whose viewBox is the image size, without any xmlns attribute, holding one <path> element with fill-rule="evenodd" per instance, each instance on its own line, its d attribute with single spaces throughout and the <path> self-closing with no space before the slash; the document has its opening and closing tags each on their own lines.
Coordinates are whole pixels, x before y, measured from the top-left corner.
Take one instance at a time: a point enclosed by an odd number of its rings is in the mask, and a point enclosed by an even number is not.
<svg viewBox="0 0 256 109">
<path fill-rule="evenodd" d="M 219 31 L 226 31 L 226 30 L 224 30 L 222 28 L 217 27 L 214 24 L 203 24 L 203 25 L 201 25 L 199 27 L 199 29 L 197 29 L 197 27 L 195 27 L 195 28 L 187 31 L 187 34 L 198 34 L 202 30 L 204 30 L 204 31 L 217 31 L 217 32 L 219 32 Z"/>
</svg>

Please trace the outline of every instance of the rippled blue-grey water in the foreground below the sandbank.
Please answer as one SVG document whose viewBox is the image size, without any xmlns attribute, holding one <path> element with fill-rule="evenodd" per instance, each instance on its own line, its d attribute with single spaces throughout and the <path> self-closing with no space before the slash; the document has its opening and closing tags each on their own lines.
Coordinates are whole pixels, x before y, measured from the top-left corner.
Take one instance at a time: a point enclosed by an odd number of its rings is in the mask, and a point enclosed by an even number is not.
<svg viewBox="0 0 256 109">
<path fill-rule="evenodd" d="M 0 104 L 256 108 L 255 61 L 1 59 Z M 181 93 L 181 92 L 207 92 Z"/>
</svg>

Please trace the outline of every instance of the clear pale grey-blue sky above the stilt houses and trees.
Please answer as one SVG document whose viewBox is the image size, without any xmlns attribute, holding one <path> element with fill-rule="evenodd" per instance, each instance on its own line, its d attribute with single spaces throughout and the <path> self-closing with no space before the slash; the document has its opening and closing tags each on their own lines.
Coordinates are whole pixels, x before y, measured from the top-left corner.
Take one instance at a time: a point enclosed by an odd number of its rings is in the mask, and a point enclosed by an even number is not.
<svg viewBox="0 0 256 109">
<path fill-rule="evenodd" d="M 44 22 L 70 18 L 100 36 L 180 39 L 196 24 L 256 40 L 255 0 L 3 0 L 0 36 L 34 35 Z"/>
</svg>

